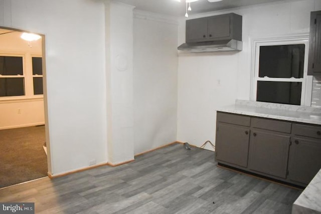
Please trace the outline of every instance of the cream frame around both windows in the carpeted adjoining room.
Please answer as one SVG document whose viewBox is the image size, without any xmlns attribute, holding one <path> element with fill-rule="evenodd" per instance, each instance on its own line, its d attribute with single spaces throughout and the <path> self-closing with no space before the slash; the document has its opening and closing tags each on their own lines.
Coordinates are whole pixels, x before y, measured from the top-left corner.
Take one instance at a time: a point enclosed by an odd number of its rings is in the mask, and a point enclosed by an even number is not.
<svg viewBox="0 0 321 214">
<path fill-rule="evenodd" d="M 6 102 L 19 102 L 26 100 L 38 100 L 43 99 L 44 95 L 34 95 L 33 88 L 33 76 L 35 77 L 43 77 L 43 75 L 33 75 L 32 73 L 32 57 L 42 57 L 42 55 L 36 53 L 23 53 L 23 52 L 12 52 L 12 51 L 0 51 L 0 56 L 8 56 L 8 57 L 22 57 L 23 58 L 23 75 L 2 75 L 1 77 L 23 77 L 25 79 L 25 95 L 22 96 L 8 96 L 8 97 L 0 97 L 0 103 Z M 0 77 L 0 78 L 1 78 Z"/>
</svg>

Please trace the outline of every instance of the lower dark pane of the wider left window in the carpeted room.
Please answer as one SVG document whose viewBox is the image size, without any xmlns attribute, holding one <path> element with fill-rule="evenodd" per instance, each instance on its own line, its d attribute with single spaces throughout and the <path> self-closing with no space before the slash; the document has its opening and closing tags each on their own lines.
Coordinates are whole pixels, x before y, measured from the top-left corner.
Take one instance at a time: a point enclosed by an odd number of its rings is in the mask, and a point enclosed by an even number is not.
<svg viewBox="0 0 321 214">
<path fill-rule="evenodd" d="M 25 78 L 0 78 L 0 97 L 25 95 Z"/>
</svg>

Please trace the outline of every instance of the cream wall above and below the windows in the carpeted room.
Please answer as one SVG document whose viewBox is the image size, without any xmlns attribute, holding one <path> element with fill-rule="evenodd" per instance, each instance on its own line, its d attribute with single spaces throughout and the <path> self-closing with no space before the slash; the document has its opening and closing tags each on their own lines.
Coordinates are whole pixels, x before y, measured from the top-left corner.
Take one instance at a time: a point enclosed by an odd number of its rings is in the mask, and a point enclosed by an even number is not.
<svg viewBox="0 0 321 214">
<path fill-rule="evenodd" d="M 26 57 L 31 55 L 41 56 L 41 40 L 29 43 L 20 38 L 21 32 L 3 34 L 0 37 L 0 53 L 22 54 Z M 26 59 L 27 60 L 27 59 Z M 25 67 L 25 73 L 31 66 Z M 27 81 L 27 79 L 25 79 Z M 38 95 L 39 97 L 39 95 Z M 45 124 L 43 98 L 2 100 L 0 98 L 0 129 L 26 127 Z"/>
</svg>

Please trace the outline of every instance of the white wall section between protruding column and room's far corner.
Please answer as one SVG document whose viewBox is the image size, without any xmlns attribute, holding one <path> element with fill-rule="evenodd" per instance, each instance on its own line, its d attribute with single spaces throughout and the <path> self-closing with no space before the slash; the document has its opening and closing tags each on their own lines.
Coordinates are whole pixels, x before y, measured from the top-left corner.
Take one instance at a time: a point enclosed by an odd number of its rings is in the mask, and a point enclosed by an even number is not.
<svg viewBox="0 0 321 214">
<path fill-rule="evenodd" d="M 176 141 L 177 38 L 175 19 L 135 11 L 135 154 Z"/>
</svg>

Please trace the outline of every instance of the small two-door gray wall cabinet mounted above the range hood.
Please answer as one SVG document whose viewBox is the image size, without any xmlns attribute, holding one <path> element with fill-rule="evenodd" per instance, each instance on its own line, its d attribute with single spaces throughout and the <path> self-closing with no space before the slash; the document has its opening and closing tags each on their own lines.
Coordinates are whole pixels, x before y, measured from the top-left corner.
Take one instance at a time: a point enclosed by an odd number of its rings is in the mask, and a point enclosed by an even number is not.
<svg viewBox="0 0 321 214">
<path fill-rule="evenodd" d="M 186 43 L 242 40 L 242 16 L 223 14 L 186 21 Z"/>
</svg>

